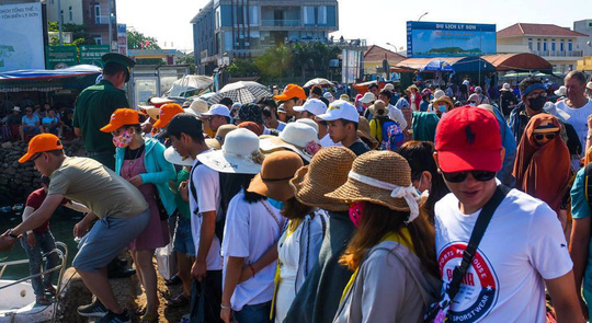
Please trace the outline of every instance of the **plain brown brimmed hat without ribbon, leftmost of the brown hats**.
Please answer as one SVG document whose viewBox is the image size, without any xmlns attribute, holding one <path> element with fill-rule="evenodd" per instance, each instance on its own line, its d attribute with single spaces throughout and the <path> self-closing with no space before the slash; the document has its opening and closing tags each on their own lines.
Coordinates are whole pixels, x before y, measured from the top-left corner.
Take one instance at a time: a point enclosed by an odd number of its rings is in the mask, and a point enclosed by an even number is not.
<svg viewBox="0 0 592 323">
<path fill-rule="evenodd" d="M 289 180 L 303 165 L 303 159 L 293 151 L 272 152 L 263 161 L 261 173 L 253 177 L 247 191 L 286 201 L 294 197 Z"/>
</svg>

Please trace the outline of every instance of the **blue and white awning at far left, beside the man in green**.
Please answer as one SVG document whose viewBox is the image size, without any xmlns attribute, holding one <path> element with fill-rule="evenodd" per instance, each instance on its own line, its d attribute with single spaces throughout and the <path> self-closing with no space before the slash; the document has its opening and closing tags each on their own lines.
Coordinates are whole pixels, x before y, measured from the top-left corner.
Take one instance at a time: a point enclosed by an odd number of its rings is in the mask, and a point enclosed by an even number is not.
<svg viewBox="0 0 592 323">
<path fill-rule="evenodd" d="M 59 70 L 14 70 L 0 73 L 0 92 L 79 89 L 94 84 L 101 68 L 79 65 Z"/>
</svg>

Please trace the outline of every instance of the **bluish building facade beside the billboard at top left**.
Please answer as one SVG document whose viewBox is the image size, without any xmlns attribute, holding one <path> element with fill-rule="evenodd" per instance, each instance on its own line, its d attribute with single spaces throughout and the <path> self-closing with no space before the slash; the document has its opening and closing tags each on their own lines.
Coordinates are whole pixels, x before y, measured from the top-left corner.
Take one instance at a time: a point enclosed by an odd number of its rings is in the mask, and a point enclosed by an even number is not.
<svg viewBox="0 0 592 323">
<path fill-rule="evenodd" d="M 109 45 L 110 38 L 112 45 L 113 42 L 117 42 L 117 10 L 114 0 L 47 0 L 47 21 L 59 21 L 58 7 L 61 9 L 61 22 L 87 25 L 96 45 Z M 111 37 L 109 36 L 110 9 L 112 12 Z"/>
</svg>

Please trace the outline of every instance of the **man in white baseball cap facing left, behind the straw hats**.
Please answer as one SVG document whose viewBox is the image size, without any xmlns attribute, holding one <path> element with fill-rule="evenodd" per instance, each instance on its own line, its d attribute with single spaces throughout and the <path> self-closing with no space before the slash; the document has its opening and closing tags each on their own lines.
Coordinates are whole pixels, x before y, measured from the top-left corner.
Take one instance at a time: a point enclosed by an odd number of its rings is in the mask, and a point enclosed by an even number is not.
<svg viewBox="0 0 592 323">
<path fill-rule="evenodd" d="M 361 155 L 371 149 L 357 136 L 357 123 L 360 115 L 353 104 L 338 100 L 331 103 L 325 114 L 318 115 L 316 119 L 329 124 L 329 136 L 333 142 L 341 142 L 356 155 Z"/>
</svg>

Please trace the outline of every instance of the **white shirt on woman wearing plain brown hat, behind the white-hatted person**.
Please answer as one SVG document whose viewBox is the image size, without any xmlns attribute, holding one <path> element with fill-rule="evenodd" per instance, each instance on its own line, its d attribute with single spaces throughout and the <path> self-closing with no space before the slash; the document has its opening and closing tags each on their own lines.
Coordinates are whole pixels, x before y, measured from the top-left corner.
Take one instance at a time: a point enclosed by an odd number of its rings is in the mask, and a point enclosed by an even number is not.
<svg viewBox="0 0 592 323">
<path fill-rule="evenodd" d="M 237 194 L 230 200 L 226 214 L 223 276 L 226 277 L 226 264 L 229 256 L 244 257 L 246 265 L 261 258 L 280 239 L 284 224 L 285 219 L 280 210 L 267 200 L 249 204 L 244 200 L 243 192 Z M 254 277 L 237 285 L 230 298 L 234 311 L 240 311 L 247 304 L 260 304 L 272 299 L 276 266 L 277 262 L 273 262 L 258 272 Z"/>
</svg>

